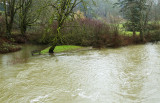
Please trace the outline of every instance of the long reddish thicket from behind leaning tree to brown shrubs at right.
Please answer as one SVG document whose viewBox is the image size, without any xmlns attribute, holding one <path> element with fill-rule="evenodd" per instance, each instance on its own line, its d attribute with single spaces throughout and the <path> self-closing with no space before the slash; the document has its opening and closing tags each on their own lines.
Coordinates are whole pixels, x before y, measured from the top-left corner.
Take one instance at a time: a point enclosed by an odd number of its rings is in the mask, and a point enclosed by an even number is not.
<svg viewBox="0 0 160 103">
<path fill-rule="evenodd" d="M 57 23 L 49 25 L 51 28 L 44 30 L 41 43 L 52 42 L 57 29 Z M 102 21 L 83 18 L 67 21 L 61 30 L 62 41 L 60 45 L 79 45 L 93 47 L 118 47 L 127 45 L 126 37 L 119 35 L 118 25 L 108 25 Z M 125 39 L 125 41 L 123 41 Z"/>
</svg>

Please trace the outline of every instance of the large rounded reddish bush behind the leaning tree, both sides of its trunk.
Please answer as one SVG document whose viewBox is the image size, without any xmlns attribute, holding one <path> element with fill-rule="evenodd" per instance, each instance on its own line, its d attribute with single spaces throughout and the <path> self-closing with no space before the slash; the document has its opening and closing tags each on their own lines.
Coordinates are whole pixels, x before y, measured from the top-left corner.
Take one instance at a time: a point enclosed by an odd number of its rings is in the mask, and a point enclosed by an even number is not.
<svg viewBox="0 0 160 103">
<path fill-rule="evenodd" d="M 57 29 L 57 23 L 49 25 L 43 32 L 41 43 L 52 42 Z M 63 45 L 80 45 L 80 46 L 100 46 L 105 45 L 108 36 L 111 34 L 110 26 L 93 19 L 76 19 L 67 21 L 61 30 Z"/>
</svg>

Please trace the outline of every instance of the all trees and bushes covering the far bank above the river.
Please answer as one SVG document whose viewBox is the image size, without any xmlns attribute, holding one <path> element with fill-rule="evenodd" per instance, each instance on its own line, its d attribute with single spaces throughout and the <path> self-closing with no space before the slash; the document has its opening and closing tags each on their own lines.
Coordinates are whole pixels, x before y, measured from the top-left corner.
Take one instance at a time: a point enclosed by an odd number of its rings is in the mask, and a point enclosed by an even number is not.
<svg viewBox="0 0 160 103">
<path fill-rule="evenodd" d="M 152 1 L 119 0 L 113 9 L 116 0 L 0 0 L 0 38 L 10 41 L 3 47 L 30 40 L 50 44 L 50 52 L 56 45 L 100 48 L 158 41 L 159 1 Z"/>
</svg>

